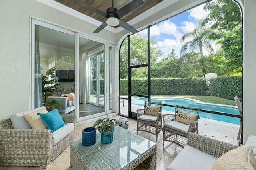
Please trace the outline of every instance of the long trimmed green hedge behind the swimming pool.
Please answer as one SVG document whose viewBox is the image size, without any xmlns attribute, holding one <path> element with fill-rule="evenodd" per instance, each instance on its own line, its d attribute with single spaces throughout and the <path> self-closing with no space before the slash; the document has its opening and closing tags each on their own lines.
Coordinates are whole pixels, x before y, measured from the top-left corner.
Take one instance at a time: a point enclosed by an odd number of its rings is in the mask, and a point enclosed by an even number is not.
<svg viewBox="0 0 256 170">
<path fill-rule="evenodd" d="M 92 80 L 96 89 L 96 80 Z M 120 94 L 127 94 L 127 79 L 120 80 Z M 104 87 L 104 80 L 100 80 Z M 147 94 L 147 79 L 132 79 L 132 94 Z M 104 94 L 104 88 L 100 89 Z M 153 95 L 212 95 L 234 100 L 238 96 L 242 100 L 242 77 L 226 76 L 210 79 L 210 86 L 205 78 L 152 78 L 151 94 Z"/>
</svg>

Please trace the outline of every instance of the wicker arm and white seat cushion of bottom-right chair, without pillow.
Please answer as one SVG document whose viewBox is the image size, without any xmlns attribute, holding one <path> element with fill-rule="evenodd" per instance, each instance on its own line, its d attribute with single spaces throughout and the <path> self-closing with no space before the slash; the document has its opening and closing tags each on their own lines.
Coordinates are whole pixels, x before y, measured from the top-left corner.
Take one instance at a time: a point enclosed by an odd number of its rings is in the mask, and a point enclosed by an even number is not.
<svg viewBox="0 0 256 170">
<path fill-rule="evenodd" d="M 188 133 L 188 145 L 180 151 L 166 170 L 212 169 L 214 164 L 212 157 L 217 160 L 226 152 L 237 147 L 231 143 L 218 141 L 196 133 Z"/>
</svg>

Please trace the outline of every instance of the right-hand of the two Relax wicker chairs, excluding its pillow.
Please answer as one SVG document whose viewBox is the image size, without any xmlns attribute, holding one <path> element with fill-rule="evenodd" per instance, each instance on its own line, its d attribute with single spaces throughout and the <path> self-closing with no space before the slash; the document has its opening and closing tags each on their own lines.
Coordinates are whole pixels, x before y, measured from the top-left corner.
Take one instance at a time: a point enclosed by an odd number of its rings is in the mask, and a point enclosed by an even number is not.
<svg viewBox="0 0 256 170">
<path fill-rule="evenodd" d="M 197 115 L 199 114 L 199 108 L 185 107 L 179 105 L 175 106 L 174 114 L 164 114 L 163 145 L 164 141 L 169 141 L 172 143 L 176 143 L 181 147 L 184 147 L 187 144 L 187 137 L 189 132 L 198 134 L 198 120 L 191 122 L 190 125 L 180 123 L 175 120 L 178 110 Z"/>
</svg>

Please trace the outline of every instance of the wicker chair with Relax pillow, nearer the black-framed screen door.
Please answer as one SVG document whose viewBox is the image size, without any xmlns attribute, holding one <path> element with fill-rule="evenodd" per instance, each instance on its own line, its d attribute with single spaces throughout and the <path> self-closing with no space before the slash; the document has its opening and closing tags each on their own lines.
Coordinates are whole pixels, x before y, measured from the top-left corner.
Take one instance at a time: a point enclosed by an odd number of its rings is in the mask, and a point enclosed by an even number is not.
<svg viewBox="0 0 256 170">
<path fill-rule="evenodd" d="M 137 135 L 138 131 L 145 131 L 156 135 L 162 130 L 162 102 L 145 101 L 145 109 L 137 110 Z"/>
</svg>

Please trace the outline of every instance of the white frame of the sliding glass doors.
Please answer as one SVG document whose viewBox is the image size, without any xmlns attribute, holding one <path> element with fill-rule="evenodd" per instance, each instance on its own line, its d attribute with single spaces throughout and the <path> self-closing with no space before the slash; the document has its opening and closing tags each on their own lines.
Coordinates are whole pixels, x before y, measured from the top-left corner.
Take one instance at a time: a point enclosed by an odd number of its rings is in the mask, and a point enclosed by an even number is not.
<svg viewBox="0 0 256 170">
<path fill-rule="evenodd" d="M 112 46 L 112 49 L 113 49 L 113 55 L 112 55 L 112 58 L 115 59 L 116 58 L 116 53 L 114 52 L 115 51 L 115 45 L 112 44 L 112 43 L 109 43 L 108 41 L 104 41 L 102 39 L 97 39 L 95 37 L 92 37 L 92 36 L 89 36 L 89 35 L 86 35 L 84 33 L 81 33 L 81 32 L 78 32 L 78 31 L 75 31 L 73 29 L 69 29 L 68 27 L 64 27 L 62 25 L 58 25 L 58 24 L 54 24 L 50 21 L 46 21 L 46 20 L 41 20 L 39 18 L 36 18 L 36 17 L 33 17 L 33 16 L 30 16 L 30 109 L 34 109 L 34 97 L 35 97 L 35 93 L 34 93 L 34 90 L 35 90 L 35 83 L 34 83 L 34 78 L 35 78 L 35 75 L 34 75 L 34 62 L 35 62 L 35 58 L 34 58 L 34 53 L 35 53 L 35 47 L 34 47 L 34 43 L 35 43 L 35 33 L 34 33 L 34 30 L 35 30 L 35 25 L 40 25 L 40 26 L 43 26 L 43 27 L 47 27 L 47 28 L 50 28 L 50 29 L 54 29 L 56 31 L 60 31 L 60 32 L 63 32 L 63 33 L 67 33 L 69 35 L 74 35 L 74 40 L 75 40 L 75 100 L 78 101 L 78 102 L 75 102 L 75 114 L 76 114 L 76 119 L 77 121 L 83 121 L 83 120 L 89 120 L 89 119 L 92 119 L 92 118 L 95 118 L 95 117 L 99 117 L 99 116 L 104 116 L 108 113 L 110 113 L 110 111 L 108 110 L 109 109 L 109 104 L 108 104 L 108 101 L 109 101 L 109 82 L 108 82 L 108 78 L 109 78 L 109 75 L 108 75 L 108 69 L 109 69 L 109 66 L 108 66 L 108 61 L 109 61 L 109 45 Z M 95 114 L 95 115 L 89 115 L 89 116 L 86 116 L 86 117 L 79 117 L 79 37 L 83 37 L 83 38 L 86 38 L 86 39 L 90 39 L 90 40 L 93 40 L 93 41 L 97 41 L 99 43 L 103 43 L 104 44 L 104 58 L 105 58 L 105 77 L 104 77 L 104 83 L 105 83 L 105 89 L 104 89 L 104 110 L 105 112 L 102 112 L 102 113 L 98 113 L 98 114 Z M 112 60 L 113 62 L 114 60 Z M 113 68 L 115 68 L 116 64 L 115 62 L 113 63 Z M 113 70 L 112 70 L 113 72 Z M 115 82 L 114 80 L 116 79 L 116 76 L 115 74 L 113 74 L 113 82 Z M 116 84 L 113 83 L 113 89 L 116 87 Z M 113 90 L 113 93 L 115 92 L 116 90 Z M 116 95 L 113 95 L 113 101 L 116 101 L 114 99 Z M 116 104 L 113 102 L 113 109 L 115 108 Z"/>
</svg>

